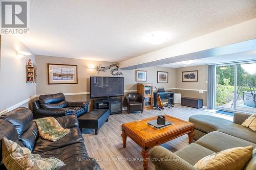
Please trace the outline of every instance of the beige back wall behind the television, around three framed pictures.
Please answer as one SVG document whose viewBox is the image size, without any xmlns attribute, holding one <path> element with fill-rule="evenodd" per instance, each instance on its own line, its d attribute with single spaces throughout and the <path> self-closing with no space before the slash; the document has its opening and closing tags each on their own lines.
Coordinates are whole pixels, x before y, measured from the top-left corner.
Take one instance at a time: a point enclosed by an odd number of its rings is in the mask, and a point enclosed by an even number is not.
<svg viewBox="0 0 256 170">
<path fill-rule="evenodd" d="M 81 59 L 51 57 L 51 56 L 40 56 L 36 55 L 37 63 L 37 83 L 36 92 L 37 94 L 49 94 L 49 93 L 74 93 L 74 92 L 90 92 L 90 76 L 112 76 L 110 69 L 105 72 L 97 73 L 96 69 L 87 68 L 88 65 L 101 65 L 108 66 L 113 62 L 104 61 L 89 61 Z M 58 84 L 48 85 L 47 77 L 47 63 L 55 64 L 74 64 L 78 65 L 78 84 Z M 118 63 L 117 63 L 118 64 Z M 147 67 L 139 70 L 147 71 L 147 82 L 136 82 L 135 81 L 135 70 L 119 70 L 122 72 L 124 77 L 124 91 L 126 90 L 137 90 L 137 83 L 153 83 L 157 88 L 175 88 L 176 74 L 175 68 L 166 67 Z M 168 83 L 157 83 L 157 71 L 168 71 L 169 81 Z M 126 92 L 125 92 L 126 93 Z M 91 101 L 89 94 L 81 95 L 67 95 L 67 100 L 70 101 Z"/>
</svg>

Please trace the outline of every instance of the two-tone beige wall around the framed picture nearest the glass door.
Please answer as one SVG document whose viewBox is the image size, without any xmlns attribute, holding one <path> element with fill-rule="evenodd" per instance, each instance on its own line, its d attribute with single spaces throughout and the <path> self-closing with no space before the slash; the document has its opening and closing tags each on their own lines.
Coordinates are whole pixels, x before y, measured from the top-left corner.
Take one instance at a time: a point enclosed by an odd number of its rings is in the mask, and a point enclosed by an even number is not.
<svg viewBox="0 0 256 170">
<path fill-rule="evenodd" d="M 198 82 L 182 82 L 182 71 L 198 70 Z M 198 90 L 207 90 L 206 80 L 208 79 L 208 67 L 207 65 L 198 65 L 190 67 L 176 68 L 176 92 L 181 93 L 181 96 L 190 98 L 203 99 L 203 105 L 207 106 L 207 91 L 199 93 Z M 185 90 L 191 89 L 191 90 Z"/>
</svg>

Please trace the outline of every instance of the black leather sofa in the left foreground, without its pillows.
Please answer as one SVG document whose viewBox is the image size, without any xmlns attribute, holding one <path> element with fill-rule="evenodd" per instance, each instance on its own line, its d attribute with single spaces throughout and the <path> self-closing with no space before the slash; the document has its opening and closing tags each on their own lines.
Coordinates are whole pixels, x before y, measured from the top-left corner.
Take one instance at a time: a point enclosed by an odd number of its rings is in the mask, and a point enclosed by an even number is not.
<svg viewBox="0 0 256 170">
<path fill-rule="evenodd" d="M 33 122 L 33 114 L 28 108 L 20 107 L 0 116 L 0 169 L 6 169 L 2 164 L 2 138 L 16 141 L 22 147 L 27 147 L 33 154 L 42 158 L 55 157 L 66 165 L 58 169 L 88 170 L 101 169 L 99 164 L 88 156 L 84 140 L 78 128 L 75 115 L 56 118 L 63 128 L 71 130 L 58 141 L 50 141 L 39 137 L 37 126 Z"/>
</svg>

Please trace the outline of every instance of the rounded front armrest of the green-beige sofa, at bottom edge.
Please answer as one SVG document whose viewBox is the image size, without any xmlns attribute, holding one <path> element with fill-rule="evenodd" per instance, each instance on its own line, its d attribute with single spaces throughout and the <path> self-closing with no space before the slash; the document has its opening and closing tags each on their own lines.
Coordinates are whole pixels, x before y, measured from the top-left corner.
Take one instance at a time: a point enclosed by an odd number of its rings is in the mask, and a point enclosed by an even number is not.
<svg viewBox="0 0 256 170">
<path fill-rule="evenodd" d="M 152 149 L 150 158 L 156 169 L 159 170 L 198 170 L 179 156 L 160 146 Z"/>
</svg>

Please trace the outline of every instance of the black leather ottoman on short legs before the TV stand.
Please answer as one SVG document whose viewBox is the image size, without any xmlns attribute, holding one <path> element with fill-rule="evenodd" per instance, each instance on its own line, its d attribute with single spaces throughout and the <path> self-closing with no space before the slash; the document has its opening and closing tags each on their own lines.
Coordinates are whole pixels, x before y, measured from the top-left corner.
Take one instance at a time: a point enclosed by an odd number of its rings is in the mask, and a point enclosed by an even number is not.
<svg viewBox="0 0 256 170">
<path fill-rule="evenodd" d="M 110 110 L 109 109 L 94 109 L 86 114 L 78 117 L 79 128 L 82 132 L 82 128 L 94 129 L 95 134 L 98 134 L 99 128 L 109 121 Z"/>
</svg>

